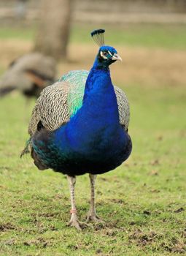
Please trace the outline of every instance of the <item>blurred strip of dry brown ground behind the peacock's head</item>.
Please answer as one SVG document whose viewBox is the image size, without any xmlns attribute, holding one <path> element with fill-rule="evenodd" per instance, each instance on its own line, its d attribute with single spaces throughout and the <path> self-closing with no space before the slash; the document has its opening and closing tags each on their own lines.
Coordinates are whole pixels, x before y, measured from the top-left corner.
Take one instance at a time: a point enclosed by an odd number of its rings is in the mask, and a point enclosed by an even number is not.
<svg viewBox="0 0 186 256">
<path fill-rule="evenodd" d="M 20 39 L 1 41 L 1 69 L 6 69 L 10 61 L 31 48 L 31 42 Z M 125 46 L 116 48 L 123 58 L 122 64 L 112 65 L 112 77 L 117 83 L 186 86 L 186 51 Z M 96 45 L 69 45 L 69 61 L 59 64 L 59 74 L 71 69 L 90 69 L 97 50 Z"/>
</svg>

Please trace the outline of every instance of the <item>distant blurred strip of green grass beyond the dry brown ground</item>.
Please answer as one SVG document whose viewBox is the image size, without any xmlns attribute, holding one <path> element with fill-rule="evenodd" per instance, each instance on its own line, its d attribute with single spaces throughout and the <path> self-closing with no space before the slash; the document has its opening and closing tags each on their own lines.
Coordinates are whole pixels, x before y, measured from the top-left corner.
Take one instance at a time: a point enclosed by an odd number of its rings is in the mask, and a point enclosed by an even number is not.
<svg viewBox="0 0 186 256">
<path fill-rule="evenodd" d="M 185 25 L 131 24 L 123 26 L 72 25 L 71 42 L 89 44 L 90 31 L 98 27 L 106 29 L 106 43 L 150 48 L 186 49 Z M 34 39 L 36 27 L 1 27 L 0 39 Z M 93 42 L 92 42 L 93 43 Z"/>
</svg>

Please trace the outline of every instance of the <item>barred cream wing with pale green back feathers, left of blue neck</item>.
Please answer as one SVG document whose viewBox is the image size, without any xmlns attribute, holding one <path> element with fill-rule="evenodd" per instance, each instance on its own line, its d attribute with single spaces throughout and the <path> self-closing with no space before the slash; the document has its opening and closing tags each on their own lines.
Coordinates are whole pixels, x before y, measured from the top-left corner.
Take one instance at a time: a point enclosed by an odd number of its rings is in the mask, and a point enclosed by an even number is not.
<svg viewBox="0 0 186 256">
<path fill-rule="evenodd" d="M 82 106 L 87 77 L 88 71 L 71 71 L 43 89 L 31 114 L 29 135 L 34 135 L 39 121 L 50 131 L 68 122 Z"/>
</svg>

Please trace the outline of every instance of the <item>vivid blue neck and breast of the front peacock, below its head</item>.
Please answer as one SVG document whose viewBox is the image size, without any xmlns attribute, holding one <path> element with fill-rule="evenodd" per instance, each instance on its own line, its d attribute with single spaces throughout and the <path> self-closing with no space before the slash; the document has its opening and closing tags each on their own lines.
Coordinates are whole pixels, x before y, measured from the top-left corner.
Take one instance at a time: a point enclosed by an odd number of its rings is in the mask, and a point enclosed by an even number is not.
<svg viewBox="0 0 186 256">
<path fill-rule="evenodd" d="M 61 132 L 58 132 L 60 135 Z M 115 138 L 119 141 L 121 133 L 117 99 L 109 68 L 100 68 L 94 64 L 85 84 L 82 108 L 67 124 L 66 142 L 63 143 L 69 143 L 75 151 L 92 151 L 91 148 L 95 145 L 108 148 L 108 144 L 116 143 Z"/>
</svg>

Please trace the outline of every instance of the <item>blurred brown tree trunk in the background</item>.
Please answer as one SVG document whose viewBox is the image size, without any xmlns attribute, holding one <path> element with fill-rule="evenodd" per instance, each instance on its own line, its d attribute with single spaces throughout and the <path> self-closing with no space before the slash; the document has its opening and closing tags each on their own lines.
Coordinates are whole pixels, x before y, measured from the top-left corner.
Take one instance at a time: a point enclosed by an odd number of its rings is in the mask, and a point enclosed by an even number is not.
<svg viewBox="0 0 186 256">
<path fill-rule="evenodd" d="M 41 0 L 39 30 L 34 50 L 66 59 L 72 0 Z"/>
</svg>

